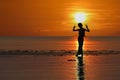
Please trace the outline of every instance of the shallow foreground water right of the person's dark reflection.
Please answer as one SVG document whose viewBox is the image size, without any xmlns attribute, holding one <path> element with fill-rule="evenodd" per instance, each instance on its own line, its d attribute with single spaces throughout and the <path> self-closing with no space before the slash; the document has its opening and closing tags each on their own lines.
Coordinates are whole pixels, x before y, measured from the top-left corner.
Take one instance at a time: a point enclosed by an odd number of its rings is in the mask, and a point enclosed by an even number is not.
<svg viewBox="0 0 120 80">
<path fill-rule="evenodd" d="M 85 57 L 87 80 L 120 80 L 120 55 Z"/>
</svg>

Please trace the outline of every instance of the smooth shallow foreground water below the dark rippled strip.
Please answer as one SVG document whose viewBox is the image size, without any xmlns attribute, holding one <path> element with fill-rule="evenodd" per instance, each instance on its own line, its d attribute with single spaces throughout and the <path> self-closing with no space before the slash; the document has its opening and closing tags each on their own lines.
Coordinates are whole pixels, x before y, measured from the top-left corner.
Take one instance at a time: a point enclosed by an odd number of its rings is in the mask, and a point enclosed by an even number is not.
<svg viewBox="0 0 120 80">
<path fill-rule="evenodd" d="M 84 56 L 81 75 L 73 55 L 5 55 L 0 56 L 0 80 L 120 80 L 119 62 L 120 55 Z"/>
</svg>

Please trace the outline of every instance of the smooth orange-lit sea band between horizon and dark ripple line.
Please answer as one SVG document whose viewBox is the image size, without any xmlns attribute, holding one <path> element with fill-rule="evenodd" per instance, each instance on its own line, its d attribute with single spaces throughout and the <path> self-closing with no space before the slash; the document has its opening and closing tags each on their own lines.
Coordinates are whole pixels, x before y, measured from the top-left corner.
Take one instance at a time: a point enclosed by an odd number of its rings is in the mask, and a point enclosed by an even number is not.
<svg viewBox="0 0 120 80">
<path fill-rule="evenodd" d="M 0 37 L 1 50 L 77 50 L 77 37 Z M 120 50 L 120 37 L 86 37 L 84 50 Z"/>
</svg>

